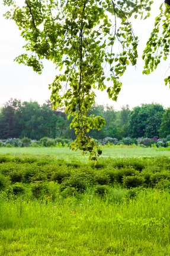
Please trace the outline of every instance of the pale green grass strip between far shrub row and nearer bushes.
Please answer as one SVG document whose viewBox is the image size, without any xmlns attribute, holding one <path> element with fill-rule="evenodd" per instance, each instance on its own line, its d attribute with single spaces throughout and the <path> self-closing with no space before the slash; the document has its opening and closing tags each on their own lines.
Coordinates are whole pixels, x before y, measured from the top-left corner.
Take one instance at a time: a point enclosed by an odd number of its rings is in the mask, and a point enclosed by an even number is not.
<svg viewBox="0 0 170 256">
<path fill-rule="evenodd" d="M 0 154 L 34 154 L 53 155 L 57 158 L 72 158 L 73 156 L 82 159 L 81 152 L 70 151 L 69 148 L 0 148 Z M 102 156 L 111 157 L 133 157 L 133 156 L 170 156 L 170 151 L 159 151 L 156 148 L 103 148 Z M 87 154 L 88 156 L 88 154 Z"/>
</svg>

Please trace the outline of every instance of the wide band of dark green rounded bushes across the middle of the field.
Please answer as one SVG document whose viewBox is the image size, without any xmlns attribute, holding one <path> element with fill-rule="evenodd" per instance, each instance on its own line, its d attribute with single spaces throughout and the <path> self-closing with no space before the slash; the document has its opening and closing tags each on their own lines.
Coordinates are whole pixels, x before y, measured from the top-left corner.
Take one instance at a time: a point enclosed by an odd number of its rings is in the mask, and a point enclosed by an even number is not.
<svg viewBox="0 0 170 256">
<path fill-rule="evenodd" d="M 62 194 L 66 191 L 84 193 L 89 187 L 102 194 L 117 185 L 126 189 L 170 189 L 167 157 L 100 159 L 94 165 L 55 158 L 1 156 L 0 163 L 0 193 L 24 193 L 25 188 L 31 187 L 38 197 L 42 191 L 48 191 L 51 183 L 56 184 Z"/>
</svg>

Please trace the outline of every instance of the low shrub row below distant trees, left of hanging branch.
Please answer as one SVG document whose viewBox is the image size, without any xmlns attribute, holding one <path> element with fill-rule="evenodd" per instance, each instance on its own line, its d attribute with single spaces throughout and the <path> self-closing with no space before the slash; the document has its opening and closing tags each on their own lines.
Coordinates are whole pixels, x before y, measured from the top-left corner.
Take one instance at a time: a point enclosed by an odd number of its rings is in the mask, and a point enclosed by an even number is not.
<svg viewBox="0 0 170 256">
<path fill-rule="evenodd" d="M 69 139 L 50 139 L 48 137 L 43 137 L 40 140 L 31 140 L 27 137 L 23 137 L 23 139 L 1 139 L 0 140 L 0 147 L 5 146 L 7 148 L 11 147 L 27 147 L 31 146 L 33 148 L 40 148 L 40 147 L 68 147 L 72 140 Z"/>
</svg>

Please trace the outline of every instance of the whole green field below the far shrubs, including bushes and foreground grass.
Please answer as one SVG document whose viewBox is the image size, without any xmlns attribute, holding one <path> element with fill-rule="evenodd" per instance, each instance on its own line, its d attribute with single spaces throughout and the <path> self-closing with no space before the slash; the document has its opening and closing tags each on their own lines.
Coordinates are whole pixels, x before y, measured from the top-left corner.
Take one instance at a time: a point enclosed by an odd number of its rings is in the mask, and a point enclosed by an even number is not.
<svg viewBox="0 0 170 256">
<path fill-rule="evenodd" d="M 80 155 L 2 148 L 0 255 L 170 255 L 169 151 Z"/>
</svg>

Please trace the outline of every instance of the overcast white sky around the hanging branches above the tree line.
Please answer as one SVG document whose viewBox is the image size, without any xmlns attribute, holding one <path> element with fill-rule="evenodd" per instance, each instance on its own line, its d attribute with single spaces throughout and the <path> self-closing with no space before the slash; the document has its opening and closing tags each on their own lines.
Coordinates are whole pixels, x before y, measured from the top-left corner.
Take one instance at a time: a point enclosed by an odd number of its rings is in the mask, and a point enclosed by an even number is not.
<svg viewBox="0 0 170 256">
<path fill-rule="evenodd" d="M 139 36 L 139 56 L 137 68 L 130 67 L 122 77 L 123 87 L 118 96 L 117 103 L 108 100 L 106 92 L 97 94 L 98 104 L 110 104 L 118 110 L 122 105 L 129 104 L 130 107 L 142 103 L 161 103 L 165 107 L 170 107 L 170 89 L 164 85 L 165 75 L 169 66 L 168 62 L 163 61 L 159 68 L 151 75 L 142 75 L 143 60 L 141 59 L 142 50 L 149 38 L 153 28 L 156 15 L 159 14 L 159 5 L 162 0 L 155 1 L 152 9 L 152 15 L 145 21 L 134 20 L 133 28 Z M 5 12 L 4 7 L 0 6 L 0 106 L 9 98 L 18 98 L 22 101 L 30 99 L 39 101 L 43 104 L 49 99 L 50 84 L 55 75 L 56 69 L 52 62 L 44 62 L 44 70 L 38 75 L 31 68 L 19 65 L 14 62 L 14 58 L 23 53 L 23 39 L 20 37 L 21 31 L 13 21 L 5 20 L 2 14 Z"/>
</svg>

